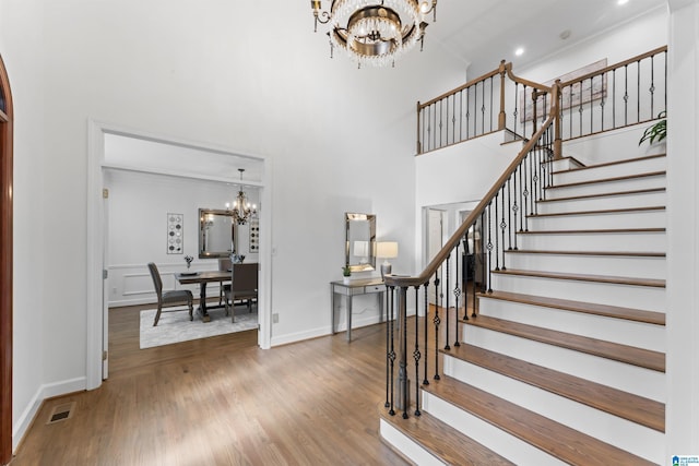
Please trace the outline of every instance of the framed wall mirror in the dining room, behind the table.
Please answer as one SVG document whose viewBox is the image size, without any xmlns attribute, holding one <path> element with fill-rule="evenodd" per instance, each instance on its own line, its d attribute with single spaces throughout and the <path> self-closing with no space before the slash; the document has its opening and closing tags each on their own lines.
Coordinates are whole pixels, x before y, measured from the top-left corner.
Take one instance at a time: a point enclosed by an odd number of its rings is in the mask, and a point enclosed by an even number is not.
<svg viewBox="0 0 699 466">
<path fill-rule="evenodd" d="M 228 258 L 235 229 L 229 211 L 199 210 L 199 259 Z"/>
</svg>

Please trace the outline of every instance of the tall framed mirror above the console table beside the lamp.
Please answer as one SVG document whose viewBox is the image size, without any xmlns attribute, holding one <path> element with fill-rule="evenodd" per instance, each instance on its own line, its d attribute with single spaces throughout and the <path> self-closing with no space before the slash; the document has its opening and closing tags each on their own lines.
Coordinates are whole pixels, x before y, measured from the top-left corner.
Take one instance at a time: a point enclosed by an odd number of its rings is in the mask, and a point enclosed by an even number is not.
<svg viewBox="0 0 699 466">
<path fill-rule="evenodd" d="M 376 267 L 376 215 L 345 213 L 345 264 L 352 272 Z"/>
</svg>

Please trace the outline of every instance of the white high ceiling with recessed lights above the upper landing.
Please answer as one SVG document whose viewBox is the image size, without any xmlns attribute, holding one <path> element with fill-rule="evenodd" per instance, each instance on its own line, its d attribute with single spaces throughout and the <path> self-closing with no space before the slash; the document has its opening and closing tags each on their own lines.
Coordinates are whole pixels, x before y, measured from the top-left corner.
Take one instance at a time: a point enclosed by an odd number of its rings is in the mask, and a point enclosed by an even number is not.
<svg viewBox="0 0 699 466">
<path fill-rule="evenodd" d="M 522 67 L 664 5 L 665 0 L 439 0 L 425 48 L 443 47 L 475 77 L 500 59 Z M 524 53 L 516 57 L 519 47 Z"/>
</svg>

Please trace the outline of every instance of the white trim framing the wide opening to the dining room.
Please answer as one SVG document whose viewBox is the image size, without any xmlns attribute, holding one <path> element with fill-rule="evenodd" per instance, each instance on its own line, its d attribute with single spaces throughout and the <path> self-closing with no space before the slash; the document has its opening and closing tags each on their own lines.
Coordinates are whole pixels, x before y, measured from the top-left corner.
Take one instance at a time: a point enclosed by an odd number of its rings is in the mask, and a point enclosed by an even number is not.
<svg viewBox="0 0 699 466">
<path fill-rule="evenodd" d="M 106 271 L 105 248 L 106 212 L 103 198 L 104 170 L 110 167 L 105 163 L 105 134 L 118 134 L 128 138 L 144 139 L 166 144 L 182 145 L 206 151 L 216 151 L 257 159 L 263 165 L 262 182 L 260 184 L 260 294 L 258 296 L 258 345 L 268 349 L 272 339 L 272 306 L 271 306 L 271 264 L 272 264 L 272 163 L 266 156 L 250 156 L 233 151 L 228 147 L 205 146 L 175 138 L 162 136 L 142 131 L 123 128 L 96 120 L 87 122 L 87 307 L 86 307 L 86 389 L 97 389 L 106 374 L 108 360 L 103 360 L 105 333 L 108 332 L 107 300 L 104 299 Z M 120 169 L 129 167 L 120 166 Z M 142 168 L 132 169 L 143 171 Z M 155 171 L 153 171 L 155 172 Z M 163 174 L 173 175 L 166 169 Z M 236 183 L 236 179 L 230 180 Z"/>
</svg>

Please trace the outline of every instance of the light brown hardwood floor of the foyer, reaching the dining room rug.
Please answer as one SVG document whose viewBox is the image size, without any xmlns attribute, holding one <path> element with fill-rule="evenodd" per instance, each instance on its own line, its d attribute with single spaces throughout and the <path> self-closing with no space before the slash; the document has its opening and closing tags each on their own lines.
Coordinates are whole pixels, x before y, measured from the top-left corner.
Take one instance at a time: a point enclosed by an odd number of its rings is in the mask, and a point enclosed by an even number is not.
<svg viewBox="0 0 699 466">
<path fill-rule="evenodd" d="M 110 311 L 109 379 L 46 401 L 12 466 L 406 464 L 378 432 L 382 325 L 350 344 L 262 350 L 252 331 L 140 350 L 139 310 Z M 47 425 L 69 402 L 72 417 Z"/>
</svg>

